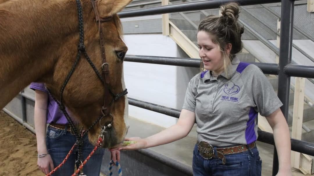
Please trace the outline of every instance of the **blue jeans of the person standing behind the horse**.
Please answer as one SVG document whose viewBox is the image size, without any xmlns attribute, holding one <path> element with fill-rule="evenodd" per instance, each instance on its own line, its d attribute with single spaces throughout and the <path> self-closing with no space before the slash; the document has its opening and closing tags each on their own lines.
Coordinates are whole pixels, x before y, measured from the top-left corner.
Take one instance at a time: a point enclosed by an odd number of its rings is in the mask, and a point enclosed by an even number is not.
<svg viewBox="0 0 314 176">
<path fill-rule="evenodd" d="M 47 149 L 51 155 L 53 165 L 56 168 L 67 156 L 70 149 L 76 142 L 76 137 L 66 130 L 59 130 L 48 126 L 46 133 Z M 83 161 L 87 158 L 94 146 L 89 142 L 88 135 L 83 137 Z M 104 149 L 98 148 L 83 167 L 87 176 L 99 176 Z M 74 173 L 75 160 L 77 158 L 76 148 L 73 150 L 68 160 L 52 174 L 53 176 L 71 176 Z"/>
</svg>

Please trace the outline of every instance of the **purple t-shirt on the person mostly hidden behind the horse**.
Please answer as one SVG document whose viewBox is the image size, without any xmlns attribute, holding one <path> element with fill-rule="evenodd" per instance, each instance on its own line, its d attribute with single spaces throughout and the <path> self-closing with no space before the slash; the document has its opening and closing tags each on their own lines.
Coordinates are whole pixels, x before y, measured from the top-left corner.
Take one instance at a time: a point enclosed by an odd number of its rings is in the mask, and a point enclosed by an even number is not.
<svg viewBox="0 0 314 176">
<path fill-rule="evenodd" d="M 47 92 L 48 94 L 48 103 L 47 103 L 47 123 L 57 123 L 57 124 L 67 124 L 68 120 L 64 116 L 63 112 L 59 109 L 56 101 L 53 100 L 51 95 L 48 93 L 44 83 L 32 82 L 30 88 L 35 90 L 40 90 Z"/>
</svg>

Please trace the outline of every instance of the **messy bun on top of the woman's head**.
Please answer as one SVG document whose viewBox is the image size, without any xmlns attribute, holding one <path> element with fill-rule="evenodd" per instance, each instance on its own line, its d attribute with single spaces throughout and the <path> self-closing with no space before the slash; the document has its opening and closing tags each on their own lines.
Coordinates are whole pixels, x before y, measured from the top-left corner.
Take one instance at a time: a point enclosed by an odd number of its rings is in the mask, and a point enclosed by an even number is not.
<svg viewBox="0 0 314 176">
<path fill-rule="evenodd" d="M 222 18 L 227 26 L 232 26 L 237 23 L 239 18 L 239 4 L 238 3 L 227 3 L 220 6 Z"/>
</svg>

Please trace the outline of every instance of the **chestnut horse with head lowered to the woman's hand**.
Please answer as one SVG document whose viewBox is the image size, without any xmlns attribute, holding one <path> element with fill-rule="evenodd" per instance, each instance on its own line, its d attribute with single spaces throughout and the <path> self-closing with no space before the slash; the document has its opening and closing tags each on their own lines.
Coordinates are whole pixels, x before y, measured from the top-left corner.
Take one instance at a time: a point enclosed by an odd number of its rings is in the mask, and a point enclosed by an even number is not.
<svg viewBox="0 0 314 176">
<path fill-rule="evenodd" d="M 127 46 L 117 13 L 131 1 L 0 0 L 0 109 L 31 82 L 43 82 L 89 129 L 91 143 L 101 135 L 103 148 L 121 143 L 127 133 Z"/>
</svg>

